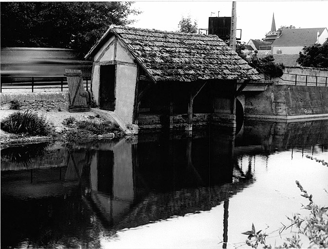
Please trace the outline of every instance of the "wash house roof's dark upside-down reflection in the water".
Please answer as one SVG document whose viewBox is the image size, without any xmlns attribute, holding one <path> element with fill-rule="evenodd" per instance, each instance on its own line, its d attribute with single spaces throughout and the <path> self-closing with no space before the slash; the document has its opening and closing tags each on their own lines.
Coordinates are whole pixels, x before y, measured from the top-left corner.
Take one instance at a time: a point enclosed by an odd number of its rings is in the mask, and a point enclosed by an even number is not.
<svg viewBox="0 0 328 249">
<path fill-rule="evenodd" d="M 252 178 L 241 178 L 238 183 L 183 189 L 174 193 L 151 193 L 133 206 L 130 212 L 115 225 L 116 230 L 142 226 L 175 215 L 184 216 L 187 213 L 209 211 L 247 188 L 253 181 Z"/>
</svg>

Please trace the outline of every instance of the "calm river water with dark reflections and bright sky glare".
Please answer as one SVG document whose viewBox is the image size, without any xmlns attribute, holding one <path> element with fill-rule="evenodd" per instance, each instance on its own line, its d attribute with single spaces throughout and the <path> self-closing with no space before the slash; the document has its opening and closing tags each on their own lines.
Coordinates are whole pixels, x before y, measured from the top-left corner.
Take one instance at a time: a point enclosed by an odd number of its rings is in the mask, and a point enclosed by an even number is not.
<svg viewBox="0 0 328 249">
<path fill-rule="evenodd" d="M 312 157 L 311 160 L 309 157 Z M 239 248 L 328 205 L 328 121 L 1 150 L 1 248 Z M 306 239 L 302 241 L 307 244 Z"/>
</svg>

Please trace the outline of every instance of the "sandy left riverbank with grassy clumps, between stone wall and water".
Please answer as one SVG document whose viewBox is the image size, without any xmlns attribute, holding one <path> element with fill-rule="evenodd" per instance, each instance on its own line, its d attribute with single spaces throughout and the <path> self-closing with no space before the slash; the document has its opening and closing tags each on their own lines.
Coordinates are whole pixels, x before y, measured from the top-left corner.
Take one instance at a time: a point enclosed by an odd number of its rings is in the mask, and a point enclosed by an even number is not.
<svg viewBox="0 0 328 249">
<path fill-rule="evenodd" d="M 124 136 L 118 125 L 99 115 L 74 113 L 67 116 L 66 112 L 12 112 L 1 121 L 1 148 L 38 142 L 89 142 Z"/>
</svg>

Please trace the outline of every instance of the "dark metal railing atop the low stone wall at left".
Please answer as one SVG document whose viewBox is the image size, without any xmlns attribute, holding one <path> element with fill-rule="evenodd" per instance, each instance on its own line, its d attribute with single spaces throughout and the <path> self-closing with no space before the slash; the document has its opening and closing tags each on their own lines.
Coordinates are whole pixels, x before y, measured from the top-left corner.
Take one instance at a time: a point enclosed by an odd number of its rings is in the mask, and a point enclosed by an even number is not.
<svg viewBox="0 0 328 249">
<path fill-rule="evenodd" d="M 83 86 L 88 90 L 91 76 L 83 76 Z M 34 92 L 36 89 L 68 89 L 66 77 L 50 77 L 50 76 L 31 76 L 31 77 L 9 77 L 1 76 L 0 92 L 4 89 L 31 89 Z"/>
</svg>

